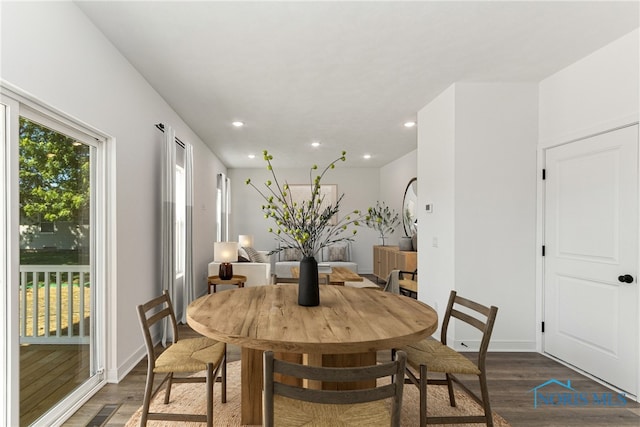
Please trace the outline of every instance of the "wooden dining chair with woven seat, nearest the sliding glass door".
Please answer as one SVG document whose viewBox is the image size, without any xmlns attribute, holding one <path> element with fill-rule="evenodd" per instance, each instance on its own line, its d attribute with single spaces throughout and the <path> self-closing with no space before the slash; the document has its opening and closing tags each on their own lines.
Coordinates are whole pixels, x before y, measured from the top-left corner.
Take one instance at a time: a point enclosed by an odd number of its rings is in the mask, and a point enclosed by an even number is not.
<svg viewBox="0 0 640 427">
<path fill-rule="evenodd" d="M 161 296 L 152 299 L 146 304 L 138 305 L 138 317 L 142 326 L 144 342 L 147 348 L 147 382 L 144 390 L 144 402 L 142 404 L 142 417 L 140 426 L 146 426 L 147 420 L 168 421 L 198 421 L 206 422 L 208 427 L 213 426 L 213 383 L 218 378 L 222 382 L 222 403 L 227 401 L 227 347 L 223 342 L 210 338 L 178 339 L 178 325 L 173 311 L 173 305 L 165 290 Z M 160 354 L 157 354 L 151 338 L 151 327 L 161 320 L 170 322 L 173 329 L 174 340 Z M 180 376 L 174 374 L 193 374 L 205 371 L 205 376 Z M 153 389 L 156 374 L 166 374 L 162 382 Z M 171 386 L 173 383 L 206 384 L 207 413 L 204 414 L 175 414 L 163 412 L 149 412 L 151 399 L 155 396 L 164 383 L 167 383 L 164 403 L 169 403 Z"/>
</svg>

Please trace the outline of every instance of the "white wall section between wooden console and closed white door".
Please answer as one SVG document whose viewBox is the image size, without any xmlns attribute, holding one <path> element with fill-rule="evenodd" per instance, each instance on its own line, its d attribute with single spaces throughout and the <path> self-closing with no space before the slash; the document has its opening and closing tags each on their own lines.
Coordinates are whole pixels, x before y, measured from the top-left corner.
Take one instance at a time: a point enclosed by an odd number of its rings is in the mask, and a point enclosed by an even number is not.
<svg viewBox="0 0 640 427">
<path fill-rule="evenodd" d="M 420 299 L 496 305 L 492 348 L 535 349 L 537 85 L 458 83 L 418 123 Z"/>
</svg>

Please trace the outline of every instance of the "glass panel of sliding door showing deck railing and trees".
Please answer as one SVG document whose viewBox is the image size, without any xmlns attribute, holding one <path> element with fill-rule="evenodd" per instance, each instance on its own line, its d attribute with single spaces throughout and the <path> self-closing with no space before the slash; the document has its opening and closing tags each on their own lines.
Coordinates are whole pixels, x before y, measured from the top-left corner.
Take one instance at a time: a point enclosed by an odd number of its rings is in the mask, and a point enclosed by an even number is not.
<svg viewBox="0 0 640 427">
<path fill-rule="evenodd" d="M 93 377 L 95 146 L 20 117 L 20 425 Z M 42 421 L 42 420 L 41 420 Z"/>
</svg>

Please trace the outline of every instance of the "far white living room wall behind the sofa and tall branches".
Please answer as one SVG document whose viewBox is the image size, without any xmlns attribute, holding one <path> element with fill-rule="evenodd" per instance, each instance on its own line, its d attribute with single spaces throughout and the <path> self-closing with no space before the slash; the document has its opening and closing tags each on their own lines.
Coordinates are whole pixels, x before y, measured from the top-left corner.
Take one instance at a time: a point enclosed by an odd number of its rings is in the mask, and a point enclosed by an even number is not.
<svg viewBox="0 0 640 427">
<path fill-rule="evenodd" d="M 321 166 L 321 165 L 320 165 Z M 282 168 L 274 162 L 274 170 L 281 183 L 306 184 L 309 182 L 309 169 Z M 278 245 L 268 228 L 273 222 L 264 218 L 261 206 L 264 204 L 253 187 L 245 184 L 247 178 L 257 185 L 271 179 L 266 167 L 263 169 L 229 169 L 231 179 L 231 237 L 238 234 L 252 234 L 254 246 L 258 250 L 275 249 Z M 376 168 L 349 168 L 346 164 L 338 165 L 327 172 L 323 184 L 337 184 L 338 195 L 344 193 L 340 211 L 346 215 L 355 209 L 366 210 L 373 206 L 379 195 L 379 170 Z M 373 245 L 378 244 L 377 233 L 366 227 L 359 227 L 355 241 L 352 243 L 352 261 L 358 264 L 361 274 L 373 272 Z"/>
</svg>

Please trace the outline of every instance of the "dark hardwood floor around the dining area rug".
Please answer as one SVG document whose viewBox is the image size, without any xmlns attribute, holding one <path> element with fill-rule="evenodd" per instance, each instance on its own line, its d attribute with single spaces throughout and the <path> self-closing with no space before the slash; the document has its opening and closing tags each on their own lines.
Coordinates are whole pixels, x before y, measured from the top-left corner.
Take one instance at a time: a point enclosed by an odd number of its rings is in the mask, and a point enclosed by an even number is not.
<svg viewBox="0 0 640 427">
<path fill-rule="evenodd" d="M 193 332 L 187 326 L 181 326 L 181 336 L 189 337 Z M 469 354 L 473 357 L 473 354 Z M 388 352 L 380 352 L 379 358 L 390 357 Z M 229 361 L 240 359 L 238 347 L 229 346 Z M 487 356 L 487 372 L 489 392 L 493 410 L 502 415 L 514 427 L 565 427 L 565 426 L 599 426 L 622 427 L 640 426 L 640 404 L 627 400 L 624 406 L 616 393 L 612 390 L 580 375 L 579 373 L 537 353 L 489 353 Z M 122 426 L 142 404 L 142 395 L 146 376 L 146 359 L 141 361 L 135 369 L 119 384 L 108 384 L 91 398 L 78 412 L 71 417 L 65 426 L 87 426 L 104 405 L 115 405 L 115 414 L 104 426 Z M 563 395 L 567 390 L 558 385 L 549 385 L 540 389 L 544 395 L 538 396 L 538 407 L 534 407 L 534 392 L 532 389 L 556 379 L 562 383 L 571 381 L 573 387 L 582 399 L 577 399 L 573 392 Z M 469 385 L 475 386 L 475 379 L 470 378 Z M 407 385 L 407 387 L 412 387 Z M 472 387 L 473 388 L 473 387 Z M 593 394 L 598 397 L 594 399 Z M 566 399 L 567 402 L 584 404 L 550 405 L 544 404 L 544 398 L 553 397 Z M 610 404 L 599 402 L 611 396 Z M 179 423 L 177 423 L 178 425 Z M 100 424 L 92 424 L 100 425 Z M 150 426 L 153 423 L 150 423 Z"/>
</svg>

